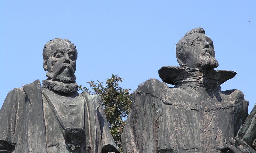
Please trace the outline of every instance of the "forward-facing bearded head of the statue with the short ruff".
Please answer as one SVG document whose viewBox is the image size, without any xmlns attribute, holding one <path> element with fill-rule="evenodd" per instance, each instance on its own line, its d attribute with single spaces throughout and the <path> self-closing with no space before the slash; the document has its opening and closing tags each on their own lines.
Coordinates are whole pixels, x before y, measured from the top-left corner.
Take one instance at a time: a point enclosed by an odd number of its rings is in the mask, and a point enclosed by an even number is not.
<svg viewBox="0 0 256 153">
<path fill-rule="evenodd" d="M 75 82 L 77 50 L 69 40 L 56 38 L 48 41 L 44 45 L 43 58 L 48 80 Z"/>
</svg>

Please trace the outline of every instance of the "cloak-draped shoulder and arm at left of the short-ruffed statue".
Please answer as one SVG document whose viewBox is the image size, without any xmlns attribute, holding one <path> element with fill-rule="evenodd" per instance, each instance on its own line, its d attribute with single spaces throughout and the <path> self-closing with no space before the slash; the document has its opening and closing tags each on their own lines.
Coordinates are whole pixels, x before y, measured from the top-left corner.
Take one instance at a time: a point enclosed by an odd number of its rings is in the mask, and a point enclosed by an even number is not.
<svg viewBox="0 0 256 153">
<path fill-rule="evenodd" d="M 0 121 L 1 146 L 7 146 L 9 152 L 47 152 L 39 80 L 8 93 Z"/>
</svg>

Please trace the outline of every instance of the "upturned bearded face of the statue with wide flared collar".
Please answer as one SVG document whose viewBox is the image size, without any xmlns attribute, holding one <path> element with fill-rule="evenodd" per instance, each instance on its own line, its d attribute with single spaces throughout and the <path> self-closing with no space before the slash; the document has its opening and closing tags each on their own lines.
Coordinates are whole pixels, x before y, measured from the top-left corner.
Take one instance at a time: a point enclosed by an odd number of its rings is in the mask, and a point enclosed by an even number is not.
<svg viewBox="0 0 256 153">
<path fill-rule="evenodd" d="M 185 54 L 187 66 L 190 68 L 217 68 L 219 63 L 215 59 L 212 40 L 203 33 L 194 33 L 186 38 Z"/>
</svg>

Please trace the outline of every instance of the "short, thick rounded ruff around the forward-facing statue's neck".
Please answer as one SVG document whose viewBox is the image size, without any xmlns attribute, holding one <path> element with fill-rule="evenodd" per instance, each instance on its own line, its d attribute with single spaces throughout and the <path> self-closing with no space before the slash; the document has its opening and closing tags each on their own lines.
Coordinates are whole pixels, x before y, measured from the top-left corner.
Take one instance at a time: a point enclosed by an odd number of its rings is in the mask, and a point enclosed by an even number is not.
<svg viewBox="0 0 256 153">
<path fill-rule="evenodd" d="M 76 83 L 63 83 L 52 80 L 43 80 L 43 87 L 63 95 L 72 95 L 78 91 L 78 85 Z"/>
</svg>

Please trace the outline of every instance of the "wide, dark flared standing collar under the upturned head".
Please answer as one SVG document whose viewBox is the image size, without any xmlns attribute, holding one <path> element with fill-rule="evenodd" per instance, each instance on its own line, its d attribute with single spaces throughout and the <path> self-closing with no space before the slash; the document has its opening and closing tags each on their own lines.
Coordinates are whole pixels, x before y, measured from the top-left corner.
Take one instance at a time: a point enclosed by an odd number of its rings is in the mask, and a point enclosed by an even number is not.
<svg viewBox="0 0 256 153">
<path fill-rule="evenodd" d="M 180 66 L 163 66 L 158 70 L 158 74 L 163 82 L 175 86 L 180 86 L 185 83 L 218 86 L 235 77 L 236 72 L 229 70 L 199 70 Z"/>
</svg>

